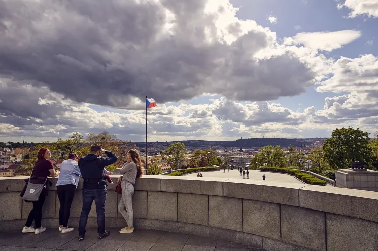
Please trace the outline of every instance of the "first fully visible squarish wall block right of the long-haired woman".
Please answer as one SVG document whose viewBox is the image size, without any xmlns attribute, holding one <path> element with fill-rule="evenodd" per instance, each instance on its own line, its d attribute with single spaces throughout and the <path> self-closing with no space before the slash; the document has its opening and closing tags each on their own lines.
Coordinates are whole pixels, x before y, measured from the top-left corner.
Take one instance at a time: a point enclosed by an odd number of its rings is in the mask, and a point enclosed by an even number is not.
<svg viewBox="0 0 378 251">
<path fill-rule="evenodd" d="M 147 218 L 177 221 L 177 193 L 147 192 Z"/>
</svg>

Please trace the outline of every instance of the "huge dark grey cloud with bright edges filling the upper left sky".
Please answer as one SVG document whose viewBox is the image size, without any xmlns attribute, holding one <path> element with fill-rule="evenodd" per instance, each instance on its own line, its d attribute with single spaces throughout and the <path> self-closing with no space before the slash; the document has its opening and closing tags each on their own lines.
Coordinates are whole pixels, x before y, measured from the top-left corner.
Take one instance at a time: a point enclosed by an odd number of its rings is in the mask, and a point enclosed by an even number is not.
<svg viewBox="0 0 378 251">
<path fill-rule="evenodd" d="M 135 97 L 203 93 L 264 101 L 314 82 L 293 55 L 258 58 L 276 34 L 236 18 L 228 0 L 13 0 L 0 9 L 0 74 L 77 102 L 129 108 Z"/>
</svg>

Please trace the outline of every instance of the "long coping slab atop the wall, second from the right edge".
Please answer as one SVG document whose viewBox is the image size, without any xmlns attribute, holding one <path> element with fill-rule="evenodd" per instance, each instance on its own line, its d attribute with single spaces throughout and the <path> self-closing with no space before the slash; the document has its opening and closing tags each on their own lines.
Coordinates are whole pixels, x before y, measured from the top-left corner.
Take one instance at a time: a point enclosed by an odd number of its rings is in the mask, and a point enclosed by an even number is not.
<svg viewBox="0 0 378 251">
<path fill-rule="evenodd" d="M 223 196 L 298 206 L 298 189 L 305 186 L 308 185 L 230 179 L 223 182 Z"/>
</svg>

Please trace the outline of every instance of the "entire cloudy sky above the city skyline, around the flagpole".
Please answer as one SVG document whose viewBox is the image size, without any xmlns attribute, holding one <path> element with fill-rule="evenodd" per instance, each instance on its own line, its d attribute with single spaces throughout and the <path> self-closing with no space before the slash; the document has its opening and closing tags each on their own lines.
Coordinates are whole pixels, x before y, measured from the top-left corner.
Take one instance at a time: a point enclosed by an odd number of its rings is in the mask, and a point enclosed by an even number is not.
<svg viewBox="0 0 378 251">
<path fill-rule="evenodd" d="M 0 141 L 328 137 L 378 122 L 378 0 L 0 0 Z"/>
</svg>

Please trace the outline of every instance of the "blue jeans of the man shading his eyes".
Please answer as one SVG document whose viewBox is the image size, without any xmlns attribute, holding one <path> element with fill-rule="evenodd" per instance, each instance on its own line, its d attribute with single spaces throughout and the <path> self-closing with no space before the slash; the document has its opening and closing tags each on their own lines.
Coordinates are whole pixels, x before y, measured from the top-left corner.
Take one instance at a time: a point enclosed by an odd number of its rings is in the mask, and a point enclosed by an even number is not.
<svg viewBox="0 0 378 251">
<path fill-rule="evenodd" d="M 87 225 L 88 215 L 92 203 L 96 204 L 97 212 L 97 232 L 103 234 L 105 232 L 105 200 L 107 198 L 107 189 L 83 189 L 83 209 L 79 220 L 79 235 L 85 234 L 85 226 Z"/>
</svg>

